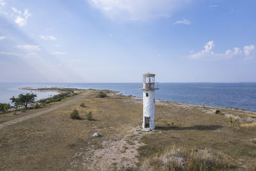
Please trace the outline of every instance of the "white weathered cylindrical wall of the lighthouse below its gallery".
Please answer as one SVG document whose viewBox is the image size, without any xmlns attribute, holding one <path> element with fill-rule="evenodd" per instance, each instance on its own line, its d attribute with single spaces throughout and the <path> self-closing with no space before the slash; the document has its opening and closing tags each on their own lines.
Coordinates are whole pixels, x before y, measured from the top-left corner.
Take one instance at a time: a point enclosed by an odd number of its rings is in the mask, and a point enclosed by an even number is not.
<svg viewBox="0 0 256 171">
<path fill-rule="evenodd" d="M 148 93 L 148 97 L 146 96 Z M 145 128 L 144 117 L 150 117 L 150 129 L 155 129 L 155 91 L 143 90 L 143 128 Z"/>
</svg>

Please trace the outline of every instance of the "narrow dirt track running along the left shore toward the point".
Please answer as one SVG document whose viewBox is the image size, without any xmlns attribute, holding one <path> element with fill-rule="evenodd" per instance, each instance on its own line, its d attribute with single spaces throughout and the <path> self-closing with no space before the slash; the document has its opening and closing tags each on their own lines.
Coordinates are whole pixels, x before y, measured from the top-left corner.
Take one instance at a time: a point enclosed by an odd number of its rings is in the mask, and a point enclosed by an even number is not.
<svg viewBox="0 0 256 171">
<path fill-rule="evenodd" d="M 43 111 L 35 112 L 35 113 L 33 113 L 33 114 L 30 114 L 30 115 L 25 115 L 25 116 L 23 116 L 23 117 L 19 117 L 19 118 L 17 118 L 17 119 L 13 119 L 12 121 L 7 121 L 7 122 L 5 122 L 5 123 L 1 123 L 1 124 L 0 124 L 0 130 L 1 130 L 2 128 L 8 126 L 8 125 L 12 125 L 12 124 L 15 124 L 15 123 L 20 123 L 20 122 L 25 121 L 25 120 L 27 120 L 27 119 L 30 119 L 30 118 L 32 118 L 32 117 L 36 117 L 36 116 L 38 116 L 38 115 L 42 115 L 42 114 L 45 114 L 45 113 L 47 113 L 47 112 L 51 112 L 52 110 L 56 110 L 56 109 L 58 109 L 58 108 L 64 107 L 65 105 L 68 105 L 69 103 L 79 101 L 79 100 L 81 100 L 81 99 L 83 98 L 84 94 L 86 94 L 86 93 L 79 94 L 79 95 L 77 95 L 75 98 L 73 98 L 72 100 L 65 101 L 65 102 L 63 102 L 63 103 L 60 103 L 60 105 L 56 105 L 56 106 L 54 106 L 54 107 L 47 108 L 47 109 L 45 109 L 45 110 L 43 110 Z"/>
</svg>

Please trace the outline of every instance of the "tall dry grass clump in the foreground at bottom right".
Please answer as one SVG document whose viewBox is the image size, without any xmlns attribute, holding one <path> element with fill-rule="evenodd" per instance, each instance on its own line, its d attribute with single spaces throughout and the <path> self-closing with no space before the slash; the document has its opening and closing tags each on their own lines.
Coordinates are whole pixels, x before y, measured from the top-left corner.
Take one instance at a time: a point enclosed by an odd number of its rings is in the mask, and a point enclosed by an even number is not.
<svg viewBox="0 0 256 171">
<path fill-rule="evenodd" d="M 176 148 L 174 145 L 163 154 L 157 153 L 142 165 L 142 170 L 231 170 L 225 156 L 207 149 Z"/>
</svg>

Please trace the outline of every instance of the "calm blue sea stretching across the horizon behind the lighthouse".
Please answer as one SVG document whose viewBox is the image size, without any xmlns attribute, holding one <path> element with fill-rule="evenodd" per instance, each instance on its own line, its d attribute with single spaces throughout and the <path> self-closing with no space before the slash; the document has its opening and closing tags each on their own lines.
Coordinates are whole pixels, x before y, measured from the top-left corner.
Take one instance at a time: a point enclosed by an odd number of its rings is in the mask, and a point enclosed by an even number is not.
<svg viewBox="0 0 256 171">
<path fill-rule="evenodd" d="M 58 94 L 22 90 L 22 87 L 65 87 L 77 89 L 109 89 L 142 98 L 140 83 L 38 83 L 0 82 L 0 103 L 10 103 L 12 96 L 36 93 L 37 100 Z M 159 83 L 156 100 L 210 107 L 239 108 L 256 112 L 256 83 Z"/>
</svg>

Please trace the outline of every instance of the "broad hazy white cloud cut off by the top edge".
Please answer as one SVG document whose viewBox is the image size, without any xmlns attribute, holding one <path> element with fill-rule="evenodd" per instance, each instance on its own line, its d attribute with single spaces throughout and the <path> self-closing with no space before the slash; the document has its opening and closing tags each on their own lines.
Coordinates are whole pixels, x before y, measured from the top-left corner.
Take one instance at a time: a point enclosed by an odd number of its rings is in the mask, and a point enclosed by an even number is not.
<svg viewBox="0 0 256 171">
<path fill-rule="evenodd" d="M 88 0 L 111 19 L 147 20 L 157 17 L 171 17 L 182 6 L 193 0 Z"/>
</svg>

